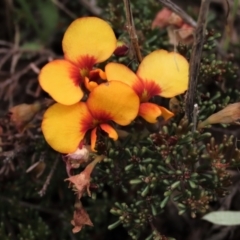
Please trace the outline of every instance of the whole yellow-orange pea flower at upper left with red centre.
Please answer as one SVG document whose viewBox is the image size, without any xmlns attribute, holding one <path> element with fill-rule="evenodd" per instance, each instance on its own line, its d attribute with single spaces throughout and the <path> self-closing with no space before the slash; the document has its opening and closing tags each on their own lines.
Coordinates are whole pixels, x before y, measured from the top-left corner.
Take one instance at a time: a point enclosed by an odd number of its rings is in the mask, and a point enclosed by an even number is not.
<svg viewBox="0 0 240 240">
<path fill-rule="evenodd" d="M 98 84 L 91 81 L 96 75 L 105 79 L 97 63 L 108 59 L 116 49 L 117 40 L 110 25 L 96 17 L 73 21 L 66 30 L 62 48 L 64 59 L 46 64 L 39 75 L 44 91 L 58 103 L 72 105 L 83 97 L 82 84 L 91 91 Z"/>
</svg>

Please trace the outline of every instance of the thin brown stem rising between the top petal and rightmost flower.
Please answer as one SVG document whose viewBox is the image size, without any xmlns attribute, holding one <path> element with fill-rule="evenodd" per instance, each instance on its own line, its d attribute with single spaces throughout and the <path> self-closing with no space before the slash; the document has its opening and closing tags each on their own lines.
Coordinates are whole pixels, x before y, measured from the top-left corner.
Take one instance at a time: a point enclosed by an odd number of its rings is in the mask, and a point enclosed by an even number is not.
<svg viewBox="0 0 240 240">
<path fill-rule="evenodd" d="M 132 49 L 134 51 L 134 55 L 136 56 L 138 62 L 140 63 L 142 61 L 142 54 L 141 54 L 140 47 L 138 44 L 138 37 L 137 37 L 136 29 L 134 26 L 130 2 L 129 2 L 129 0 L 123 0 L 123 2 L 124 2 L 124 6 L 125 6 L 125 13 L 126 13 L 126 19 L 127 19 L 127 30 L 128 30 L 128 34 L 130 36 Z"/>
</svg>

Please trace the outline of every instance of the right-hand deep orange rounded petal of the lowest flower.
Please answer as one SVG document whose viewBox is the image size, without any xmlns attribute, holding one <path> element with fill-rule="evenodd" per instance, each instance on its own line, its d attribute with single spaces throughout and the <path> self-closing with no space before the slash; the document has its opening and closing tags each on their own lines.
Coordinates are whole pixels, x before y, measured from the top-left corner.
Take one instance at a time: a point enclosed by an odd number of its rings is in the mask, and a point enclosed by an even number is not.
<svg viewBox="0 0 240 240">
<path fill-rule="evenodd" d="M 119 81 L 100 84 L 89 94 L 86 103 L 96 120 L 113 120 L 123 126 L 135 119 L 139 108 L 139 98 L 134 90 Z"/>
</svg>

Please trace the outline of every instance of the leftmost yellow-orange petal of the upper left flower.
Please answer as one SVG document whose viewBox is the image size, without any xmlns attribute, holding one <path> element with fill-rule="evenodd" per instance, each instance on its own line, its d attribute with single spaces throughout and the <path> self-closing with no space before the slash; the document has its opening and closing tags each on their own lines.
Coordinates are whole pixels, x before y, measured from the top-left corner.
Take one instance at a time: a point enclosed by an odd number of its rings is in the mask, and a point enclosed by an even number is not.
<svg viewBox="0 0 240 240">
<path fill-rule="evenodd" d="M 46 64 L 39 75 L 39 83 L 55 101 L 72 105 L 81 100 L 78 68 L 66 60 L 54 60 Z"/>
</svg>

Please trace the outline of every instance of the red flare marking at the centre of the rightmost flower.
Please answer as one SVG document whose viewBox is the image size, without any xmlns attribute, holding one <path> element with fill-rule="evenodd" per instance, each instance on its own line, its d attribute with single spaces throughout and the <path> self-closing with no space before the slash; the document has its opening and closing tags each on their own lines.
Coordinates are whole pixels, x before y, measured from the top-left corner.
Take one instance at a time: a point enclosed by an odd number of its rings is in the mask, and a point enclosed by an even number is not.
<svg viewBox="0 0 240 240">
<path fill-rule="evenodd" d="M 138 78 L 139 80 L 133 85 L 133 89 L 141 102 L 148 102 L 151 97 L 159 95 L 162 92 L 160 86 L 154 81 Z"/>
</svg>

